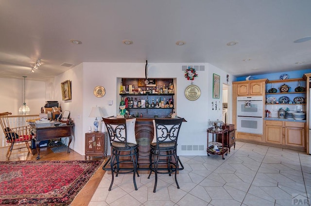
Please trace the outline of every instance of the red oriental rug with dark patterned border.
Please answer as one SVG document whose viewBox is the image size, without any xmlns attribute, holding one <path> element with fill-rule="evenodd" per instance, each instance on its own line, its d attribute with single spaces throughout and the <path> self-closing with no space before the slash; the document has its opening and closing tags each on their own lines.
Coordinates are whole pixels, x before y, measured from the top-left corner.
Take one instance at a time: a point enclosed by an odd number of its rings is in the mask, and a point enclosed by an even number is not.
<svg viewBox="0 0 311 206">
<path fill-rule="evenodd" d="M 103 161 L 0 161 L 0 206 L 69 206 Z"/>
</svg>

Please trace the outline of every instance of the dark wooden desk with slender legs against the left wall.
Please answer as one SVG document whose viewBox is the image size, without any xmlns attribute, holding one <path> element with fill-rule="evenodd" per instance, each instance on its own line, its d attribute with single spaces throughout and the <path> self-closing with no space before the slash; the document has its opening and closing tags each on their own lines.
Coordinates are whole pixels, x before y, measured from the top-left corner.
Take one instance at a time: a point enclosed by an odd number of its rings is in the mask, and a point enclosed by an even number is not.
<svg viewBox="0 0 311 206">
<path fill-rule="evenodd" d="M 40 159 L 40 147 L 39 143 L 43 140 L 52 140 L 57 139 L 61 137 L 68 137 L 69 143 L 68 143 L 68 150 L 67 153 L 70 153 L 69 145 L 72 141 L 73 137 L 73 125 L 66 125 L 66 126 L 57 126 L 57 127 L 35 127 L 35 147 L 38 152 L 37 159 Z"/>
</svg>

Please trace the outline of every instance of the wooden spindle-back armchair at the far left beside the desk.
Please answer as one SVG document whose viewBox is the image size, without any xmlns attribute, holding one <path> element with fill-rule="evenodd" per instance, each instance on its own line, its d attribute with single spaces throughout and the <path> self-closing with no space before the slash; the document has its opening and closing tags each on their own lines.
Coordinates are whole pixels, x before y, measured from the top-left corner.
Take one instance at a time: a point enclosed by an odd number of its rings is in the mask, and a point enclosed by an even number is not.
<svg viewBox="0 0 311 206">
<path fill-rule="evenodd" d="M 7 160 L 9 160 L 12 150 L 17 150 L 16 153 L 30 152 L 30 154 L 33 154 L 29 146 L 29 142 L 32 140 L 30 127 L 23 126 L 11 128 L 8 118 L 8 115 L 11 114 L 12 114 L 11 112 L 0 113 L 0 124 L 4 132 L 6 142 L 10 144 L 8 151 L 6 153 Z M 25 143 L 26 146 L 17 145 L 16 148 L 13 148 L 15 143 Z M 22 150 L 23 148 L 27 148 L 27 150 Z"/>
</svg>

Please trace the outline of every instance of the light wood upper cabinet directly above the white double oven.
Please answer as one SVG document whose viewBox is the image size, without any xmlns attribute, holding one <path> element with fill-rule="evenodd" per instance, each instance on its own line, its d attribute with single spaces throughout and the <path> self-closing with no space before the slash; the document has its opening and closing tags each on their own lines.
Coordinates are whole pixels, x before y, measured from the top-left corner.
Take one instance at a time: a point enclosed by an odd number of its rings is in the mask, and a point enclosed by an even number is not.
<svg viewBox="0 0 311 206">
<path fill-rule="evenodd" d="M 246 80 L 232 82 L 233 91 L 237 96 L 263 95 L 265 91 L 265 83 L 268 79 Z"/>
</svg>

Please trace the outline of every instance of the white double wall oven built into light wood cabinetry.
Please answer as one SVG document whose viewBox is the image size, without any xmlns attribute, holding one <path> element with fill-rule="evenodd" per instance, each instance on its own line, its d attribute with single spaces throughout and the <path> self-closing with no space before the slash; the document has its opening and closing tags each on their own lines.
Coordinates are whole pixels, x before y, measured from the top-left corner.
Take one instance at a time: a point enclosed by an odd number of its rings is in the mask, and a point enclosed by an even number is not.
<svg viewBox="0 0 311 206">
<path fill-rule="evenodd" d="M 263 131 L 263 97 L 237 97 L 237 131 L 262 134 Z"/>
</svg>

